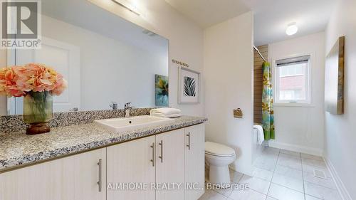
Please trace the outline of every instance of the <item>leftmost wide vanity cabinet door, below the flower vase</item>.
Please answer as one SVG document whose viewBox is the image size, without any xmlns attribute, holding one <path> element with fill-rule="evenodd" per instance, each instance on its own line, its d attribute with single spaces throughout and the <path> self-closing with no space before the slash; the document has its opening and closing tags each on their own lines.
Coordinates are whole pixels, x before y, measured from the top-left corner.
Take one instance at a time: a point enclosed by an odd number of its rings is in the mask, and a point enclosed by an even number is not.
<svg viewBox="0 0 356 200">
<path fill-rule="evenodd" d="M 0 174 L 0 199 L 105 200 L 105 153 L 105 148 L 97 149 Z"/>
</svg>

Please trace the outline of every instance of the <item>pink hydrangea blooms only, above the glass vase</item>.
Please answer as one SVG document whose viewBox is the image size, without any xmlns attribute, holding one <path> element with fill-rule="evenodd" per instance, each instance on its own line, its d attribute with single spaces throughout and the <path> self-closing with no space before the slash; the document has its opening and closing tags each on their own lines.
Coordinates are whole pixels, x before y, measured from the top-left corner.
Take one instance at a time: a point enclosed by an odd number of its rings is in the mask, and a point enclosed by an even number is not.
<svg viewBox="0 0 356 200">
<path fill-rule="evenodd" d="M 67 81 L 56 70 L 38 63 L 0 69 L 0 95 L 22 97 L 31 91 L 61 95 Z"/>
</svg>

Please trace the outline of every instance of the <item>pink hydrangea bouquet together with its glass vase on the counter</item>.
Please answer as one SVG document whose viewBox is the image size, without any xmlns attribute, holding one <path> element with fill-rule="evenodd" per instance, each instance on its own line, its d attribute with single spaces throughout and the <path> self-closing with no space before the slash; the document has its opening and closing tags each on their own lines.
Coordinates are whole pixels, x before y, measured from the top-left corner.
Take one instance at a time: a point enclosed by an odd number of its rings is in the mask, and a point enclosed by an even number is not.
<svg viewBox="0 0 356 200">
<path fill-rule="evenodd" d="M 61 95 L 67 81 L 52 68 L 38 63 L 0 69 L 0 95 L 23 97 L 23 120 L 28 135 L 49 132 L 53 115 L 52 95 Z"/>
</svg>

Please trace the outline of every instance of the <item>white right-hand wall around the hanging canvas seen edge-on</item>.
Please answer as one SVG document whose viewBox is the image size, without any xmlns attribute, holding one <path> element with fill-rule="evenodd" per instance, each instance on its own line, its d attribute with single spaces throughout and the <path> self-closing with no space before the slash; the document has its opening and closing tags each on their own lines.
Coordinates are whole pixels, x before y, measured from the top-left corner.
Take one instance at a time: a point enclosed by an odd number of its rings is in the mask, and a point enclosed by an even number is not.
<svg viewBox="0 0 356 200">
<path fill-rule="evenodd" d="M 335 7 L 325 32 L 325 52 L 345 36 L 345 113 L 325 112 L 325 158 L 346 199 L 356 199 L 356 1 L 342 0 Z M 328 90 L 328 88 L 325 88 Z M 347 194 L 350 194 L 348 196 Z"/>
</svg>

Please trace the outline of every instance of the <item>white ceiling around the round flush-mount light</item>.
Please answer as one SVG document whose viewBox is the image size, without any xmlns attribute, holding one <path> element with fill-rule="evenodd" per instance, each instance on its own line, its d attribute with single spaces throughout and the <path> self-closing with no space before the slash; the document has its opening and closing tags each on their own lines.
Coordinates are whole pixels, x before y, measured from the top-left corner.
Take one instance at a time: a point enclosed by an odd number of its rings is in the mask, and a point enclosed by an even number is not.
<svg viewBox="0 0 356 200">
<path fill-rule="evenodd" d="M 202 28 L 252 10 L 254 43 L 260 46 L 325 30 L 338 0 L 165 0 Z M 286 35 L 288 23 L 299 28 Z"/>
</svg>

